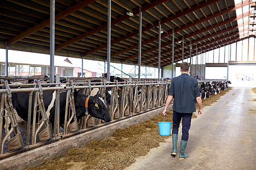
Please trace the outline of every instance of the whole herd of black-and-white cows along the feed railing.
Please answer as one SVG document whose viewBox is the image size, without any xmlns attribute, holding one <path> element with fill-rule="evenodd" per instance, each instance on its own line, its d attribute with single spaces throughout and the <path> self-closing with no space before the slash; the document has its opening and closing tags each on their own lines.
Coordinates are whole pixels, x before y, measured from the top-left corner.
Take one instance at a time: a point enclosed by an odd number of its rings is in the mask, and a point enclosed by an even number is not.
<svg viewBox="0 0 256 170">
<path fill-rule="evenodd" d="M 114 81 L 114 76 L 112 76 L 112 79 Z M 123 79 L 119 78 L 118 82 L 122 82 Z M 92 81 L 93 82 L 93 81 Z M 98 80 L 94 80 L 94 82 L 98 82 Z M 200 82 L 200 92 L 202 99 L 205 99 L 206 97 L 210 97 L 210 94 L 216 95 L 220 92 L 220 90 L 226 90 L 229 87 L 230 81 L 221 81 L 221 82 Z M 44 114 L 38 114 L 39 116 L 36 117 L 36 122 L 40 122 L 40 119 L 43 117 L 45 120 L 49 121 L 52 125 L 52 129 L 56 116 L 56 92 L 53 91 L 43 91 L 42 99 L 43 99 L 43 109 L 41 109 L 40 112 L 45 112 Z M 65 119 L 67 119 L 67 100 L 73 100 L 71 104 L 71 109 L 75 113 L 75 116 L 71 117 L 71 120 L 69 120 L 70 125 L 75 122 L 79 121 L 82 117 L 85 117 L 86 115 L 90 115 L 91 117 L 98 118 L 100 120 L 104 120 L 105 122 L 110 122 L 113 120 L 112 116 L 109 113 L 109 109 L 107 105 L 110 105 L 110 99 L 111 99 L 111 88 L 106 90 L 105 98 L 102 98 L 102 95 L 99 92 L 96 92 L 95 94 L 85 95 L 82 90 L 73 90 L 72 95 L 69 96 L 69 99 L 67 97 L 68 92 L 62 91 L 59 94 L 59 125 L 64 124 Z M 32 106 L 35 104 L 35 94 L 32 96 Z M 3 100 L 1 100 L 3 101 Z M 30 92 L 18 92 L 18 93 L 12 93 L 11 94 L 11 103 L 13 109 L 15 109 L 16 113 L 20 118 L 22 118 L 24 121 L 28 121 L 28 113 L 31 112 L 33 116 L 33 109 L 30 106 L 29 101 L 30 99 Z M 6 107 L 6 106 L 5 106 Z M 38 106 L 37 106 L 38 107 Z M 3 109 L 3 108 L 1 108 Z M 29 111 L 31 109 L 31 111 Z M 69 108 L 70 109 L 70 108 Z M 47 116 L 46 116 L 46 113 Z M 70 112 L 69 114 L 74 114 Z M 34 118 L 35 119 L 35 118 Z M 32 118 L 31 124 L 32 124 Z M 5 118 L 3 118 L 3 121 L 5 121 Z M 6 121 L 7 122 L 7 121 Z M 45 123 L 45 122 L 44 122 Z M 11 124 L 9 128 L 6 128 L 8 130 L 14 129 L 14 126 L 16 126 L 17 122 L 15 120 L 11 120 Z M 0 120 L 1 125 L 1 120 Z M 4 125 L 4 123 L 3 123 Z M 7 132 L 6 132 L 7 134 Z M 1 142 L 1 141 L 0 141 Z M 2 141 L 5 142 L 5 141 Z M 15 147 L 14 147 L 15 148 Z"/>
</svg>

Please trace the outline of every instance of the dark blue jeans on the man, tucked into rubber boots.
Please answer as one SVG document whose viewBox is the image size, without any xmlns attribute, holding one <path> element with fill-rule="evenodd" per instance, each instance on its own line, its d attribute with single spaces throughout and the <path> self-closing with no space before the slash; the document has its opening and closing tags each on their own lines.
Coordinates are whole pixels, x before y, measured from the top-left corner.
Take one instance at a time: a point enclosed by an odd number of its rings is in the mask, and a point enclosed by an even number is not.
<svg viewBox="0 0 256 170">
<path fill-rule="evenodd" d="M 182 117 L 181 139 L 183 141 L 188 141 L 188 131 L 191 125 L 192 113 L 179 113 L 174 111 L 174 116 L 172 117 L 172 134 L 178 134 L 181 117 Z"/>
</svg>

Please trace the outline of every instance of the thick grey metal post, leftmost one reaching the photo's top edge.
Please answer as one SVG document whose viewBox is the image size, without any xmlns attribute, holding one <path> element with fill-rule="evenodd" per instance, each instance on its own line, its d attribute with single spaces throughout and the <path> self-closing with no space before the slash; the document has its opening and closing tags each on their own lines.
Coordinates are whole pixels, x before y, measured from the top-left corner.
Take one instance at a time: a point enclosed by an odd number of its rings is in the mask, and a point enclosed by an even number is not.
<svg viewBox="0 0 256 170">
<path fill-rule="evenodd" d="M 50 83 L 54 83 L 54 55 L 55 55 L 55 0 L 50 5 Z"/>
</svg>

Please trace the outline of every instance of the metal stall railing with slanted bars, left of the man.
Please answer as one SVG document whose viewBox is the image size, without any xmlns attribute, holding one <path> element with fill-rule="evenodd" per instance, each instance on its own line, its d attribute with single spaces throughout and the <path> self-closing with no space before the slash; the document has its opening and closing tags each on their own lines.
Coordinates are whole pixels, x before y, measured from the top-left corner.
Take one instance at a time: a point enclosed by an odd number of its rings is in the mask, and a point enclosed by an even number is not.
<svg viewBox="0 0 256 170">
<path fill-rule="evenodd" d="M 1 155 L 4 153 L 4 145 L 6 145 L 6 150 L 15 150 L 18 148 L 27 150 L 47 142 L 52 142 L 60 138 L 81 133 L 82 131 L 97 128 L 98 126 L 104 126 L 104 121 L 90 117 L 89 114 L 85 114 L 84 117 L 77 120 L 73 95 L 75 90 L 82 90 L 85 95 L 92 95 L 93 90 L 97 90 L 97 92 L 102 95 L 105 104 L 108 100 L 106 93 L 110 92 L 110 105 L 107 105 L 107 108 L 113 118 L 112 122 L 115 122 L 163 106 L 168 96 L 168 88 L 170 87 L 170 84 L 171 81 L 153 80 L 150 80 L 150 82 L 117 82 L 117 80 L 115 80 L 113 83 L 105 82 L 105 80 L 101 80 L 100 82 L 90 82 L 90 80 L 86 80 L 84 83 L 73 83 L 72 80 L 68 80 L 66 84 L 41 84 L 40 80 L 35 80 L 34 84 L 10 84 L 10 88 L 7 80 L 2 80 L 2 89 L 0 89 Z M 43 93 L 46 91 L 54 91 L 56 93 L 55 121 L 52 128 L 49 124 L 43 100 Z M 20 133 L 20 126 L 16 121 L 15 111 L 11 101 L 11 94 L 19 92 L 27 92 L 29 96 L 27 113 L 28 123 L 24 130 L 26 131 L 25 138 L 22 138 Z M 65 99 L 64 126 L 60 125 L 61 92 L 67 94 Z M 11 129 L 9 133 L 5 134 L 5 137 L 2 138 L 3 118 L 6 118 L 3 113 L 5 112 L 7 113 L 7 117 L 10 117 L 11 119 Z M 29 123 L 31 122 L 31 119 L 32 126 Z M 71 123 L 71 121 L 73 121 L 73 123 Z M 64 128 L 62 129 L 62 127 Z M 9 140 L 7 139 L 8 137 L 12 138 Z"/>
</svg>

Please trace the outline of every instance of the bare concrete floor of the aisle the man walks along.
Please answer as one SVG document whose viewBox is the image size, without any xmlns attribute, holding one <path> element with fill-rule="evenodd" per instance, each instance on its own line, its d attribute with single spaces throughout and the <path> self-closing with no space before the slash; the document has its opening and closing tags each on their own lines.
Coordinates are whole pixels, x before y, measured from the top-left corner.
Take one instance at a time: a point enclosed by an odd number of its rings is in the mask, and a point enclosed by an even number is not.
<svg viewBox="0 0 256 170">
<path fill-rule="evenodd" d="M 153 148 L 130 169 L 256 169 L 256 94 L 251 87 L 233 87 L 192 119 L 187 159 L 172 157 L 172 138 Z M 181 127 L 177 151 L 179 151 Z M 179 153 L 177 153 L 179 154 Z"/>
</svg>

